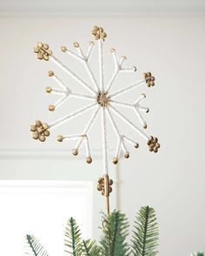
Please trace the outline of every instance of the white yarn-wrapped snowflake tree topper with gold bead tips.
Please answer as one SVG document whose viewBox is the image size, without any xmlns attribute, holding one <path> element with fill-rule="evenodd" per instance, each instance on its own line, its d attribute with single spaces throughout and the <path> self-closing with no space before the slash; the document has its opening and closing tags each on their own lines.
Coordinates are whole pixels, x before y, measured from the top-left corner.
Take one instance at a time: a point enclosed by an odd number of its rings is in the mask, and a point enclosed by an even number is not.
<svg viewBox="0 0 205 256">
<path fill-rule="evenodd" d="M 73 155 L 77 155 L 81 146 L 85 145 L 86 149 L 86 161 L 88 164 L 92 162 L 91 151 L 89 147 L 89 130 L 90 127 L 94 124 L 94 121 L 99 115 L 102 116 L 102 155 L 103 155 L 103 177 L 98 179 L 97 189 L 102 192 L 102 195 L 106 197 L 106 207 L 107 212 L 109 213 L 109 192 L 112 191 L 111 185 L 113 181 L 109 179 L 109 165 L 108 165 L 108 146 L 107 146 L 107 122 L 109 121 L 113 127 L 113 130 L 116 132 L 116 154 L 112 159 L 113 164 L 117 164 L 121 152 L 123 153 L 124 158 L 129 158 L 129 151 L 127 145 L 134 145 L 136 148 L 139 147 L 138 143 L 134 141 L 129 136 L 122 134 L 116 124 L 115 116 L 118 116 L 122 119 L 124 124 L 131 126 L 142 138 L 145 138 L 147 145 L 149 146 L 150 152 L 158 152 L 160 144 L 158 139 L 152 136 L 149 136 L 144 132 L 144 129 L 147 128 L 145 119 L 142 117 L 142 112 L 149 112 L 149 108 L 142 106 L 142 100 L 146 97 L 145 94 L 142 94 L 139 98 L 136 99 L 136 102 L 133 104 L 122 102 L 116 100 L 117 96 L 122 95 L 127 91 L 141 86 L 147 85 L 148 87 L 155 85 L 155 77 L 152 76 L 150 72 L 145 72 L 141 80 L 134 82 L 133 84 L 125 85 L 121 90 L 110 93 L 110 89 L 116 81 L 116 78 L 122 72 L 136 72 L 136 66 L 126 68 L 124 67 L 124 62 L 126 57 L 118 57 L 115 49 L 111 49 L 111 55 L 115 64 L 115 71 L 112 77 L 109 80 L 108 84 L 104 83 L 104 61 L 103 61 L 103 44 L 104 40 L 107 37 L 106 32 L 101 28 L 95 26 L 92 30 L 92 34 L 95 37 L 95 40 L 98 44 L 98 56 L 99 56 L 99 79 L 96 78 L 95 74 L 90 68 L 89 59 L 92 52 L 94 51 L 94 42 L 89 42 L 89 48 L 85 54 L 80 44 L 75 42 L 74 48 L 75 51 L 69 50 L 66 46 L 61 47 L 61 51 L 69 54 L 72 57 L 75 57 L 78 61 L 83 63 L 86 71 L 89 74 L 90 81 L 84 81 L 81 77 L 78 77 L 74 71 L 71 71 L 69 67 L 63 64 L 53 53 L 50 51 L 48 44 L 37 43 L 34 52 L 37 55 L 37 58 L 40 60 L 54 62 L 58 67 L 63 71 L 69 74 L 70 77 L 73 77 L 76 82 L 81 84 L 89 93 L 81 94 L 72 91 L 68 84 L 66 84 L 61 77 L 58 77 L 54 71 L 49 71 L 49 76 L 56 81 L 59 88 L 46 87 L 46 92 L 57 94 L 60 98 L 56 101 L 56 104 L 49 105 L 49 111 L 55 111 L 60 105 L 62 105 L 68 98 L 83 98 L 87 99 L 90 104 L 85 105 L 83 108 L 78 111 L 69 113 L 63 118 L 59 118 L 51 124 L 43 123 L 39 120 L 36 120 L 34 125 L 30 126 L 30 131 L 32 132 L 32 138 L 39 139 L 40 141 L 45 141 L 46 137 L 50 136 L 50 130 L 54 129 L 57 125 L 62 125 L 65 122 L 68 122 L 71 118 L 83 114 L 84 112 L 93 109 L 93 114 L 91 115 L 89 122 L 85 125 L 84 130 L 80 134 L 69 134 L 69 135 L 58 135 L 57 141 L 63 142 L 63 140 L 74 139 L 76 140 L 76 147 L 72 150 Z M 91 82 L 91 83 L 90 83 Z M 117 109 L 117 106 L 122 106 L 128 109 L 131 109 L 136 112 L 137 118 L 139 118 L 142 128 L 135 125 L 129 118 L 122 114 L 121 111 Z"/>
</svg>

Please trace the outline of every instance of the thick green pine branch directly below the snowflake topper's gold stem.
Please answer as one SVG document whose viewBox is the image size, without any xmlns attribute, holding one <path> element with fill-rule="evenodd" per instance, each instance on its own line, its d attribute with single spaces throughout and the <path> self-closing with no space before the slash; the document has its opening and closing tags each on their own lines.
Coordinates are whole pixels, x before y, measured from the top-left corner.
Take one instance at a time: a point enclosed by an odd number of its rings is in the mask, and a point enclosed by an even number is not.
<svg viewBox="0 0 205 256">
<path fill-rule="evenodd" d="M 112 212 L 104 221 L 102 228 L 102 256 L 127 256 L 129 246 L 126 242 L 128 236 L 128 221 L 121 212 Z"/>
</svg>

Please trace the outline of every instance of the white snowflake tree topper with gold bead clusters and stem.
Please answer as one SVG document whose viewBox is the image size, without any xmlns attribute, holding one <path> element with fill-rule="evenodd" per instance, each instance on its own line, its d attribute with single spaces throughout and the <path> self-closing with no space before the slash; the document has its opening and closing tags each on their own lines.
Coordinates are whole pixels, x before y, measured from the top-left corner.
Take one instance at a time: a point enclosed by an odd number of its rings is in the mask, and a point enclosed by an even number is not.
<svg viewBox="0 0 205 256">
<path fill-rule="evenodd" d="M 63 82 L 61 81 L 61 78 L 58 77 L 57 75 L 55 75 L 54 71 L 49 71 L 48 75 L 49 77 L 53 77 L 57 84 L 59 84 L 61 87 L 63 87 L 63 89 L 58 90 L 54 88 L 51 88 L 50 86 L 47 86 L 45 88 L 45 91 L 47 93 L 52 93 L 52 94 L 59 94 L 62 95 L 62 98 L 59 99 L 59 101 L 57 101 L 54 104 L 50 104 L 49 105 L 49 111 L 55 111 L 55 109 L 59 106 L 59 104 L 62 104 L 64 102 L 64 100 L 66 98 L 69 97 L 69 95 L 73 95 L 76 98 L 90 98 L 93 100 L 93 104 L 90 105 L 86 105 L 85 107 L 83 107 L 81 110 L 79 111 L 74 111 L 72 113 L 70 113 L 68 116 L 66 116 L 65 118 L 60 118 L 59 120 L 57 120 L 56 122 L 54 122 L 52 125 L 47 125 L 45 123 L 42 123 L 39 120 L 36 120 L 35 125 L 31 125 L 30 126 L 30 131 L 32 132 L 32 138 L 34 139 L 39 139 L 40 141 L 45 141 L 46 137 L 50 136 L 50 131 L 49 128 L 52 127 L 52 129 L 56 126 L 56 125 L 60 125 L 62 124 L 65 120 L 69 119 L 69 118 L 74 118 L 76 117 L 76 115 L 83 113 L 83 111 L 87 111 L 89 108 L 91 108 L 92 106 L 94 106 L 96 104 L 96 109 L 97 111 L 93 114 L 92 118 L 90 118 L 89 124 L 86 126 L 85 131 L 83 131 L 83 135 L 82 134 L 76 134 L 76 136 L 63 136 L 63 135 L 58 135 L 57 136 L 57 141 L 58 142 L 63 142 L 64 140 L 69 140 L 70 139 L 81 139 L 79 140 L 79 143 L 76 144 L 76 146 L 74 146 L 74 148 L 72 149 L 72 154 L 74 156 L 77 156 L 78 153 L 80 152 L 80 146 L 83 142 L 83 139 L 85 138 L 85 143 L 86 143 L 86 157 L 85 160 L 88 164 L 92 163 L 92 158 L 90 155 L 90 149 L 89 149 L 89 138 L 87 137 L 87 134 L 89 132 L 89 128 L 91 127 L 91 125 L 94 123 L 94 120 L 97 116 L 97 112 L 100 111 L 99 109 L 100 106 L 102 106 L 102 108 L 107 108 L 107 109 L 102 109 L 102 111 L 104 111 L 104 113 L 107 115 L 107 113 L 110 116 L 110 121 L 113 123 L 113 128 L 114 130 L 116 130 L 116 135 L 118 136 L 121 144 L 118 144 L 118 153 L 116 155 L 114 155 L 114 158 L 112 159 L 112 163 L 114 165 L 116 165 L 120 159 L 120 155 L 122 153 L 124 158 L 129 158 L 129 152 L 127 152 L 125 145 L 123 146 L 123 143 L 130 143 L 133 147 L 135 147 L 136 149 L 139 147 L 139 144 L 136 143 L 136 140 L 133 140 L 131 138 L 126 137 L 125 135 L 120 134 L 120 131 L 118 131 L 117 129 L 117 124 L 115 122 L 115 118 L 112 117 L 112 111 L 113 113 L 116 113 L 119 117 L 121 117 L 122 119 L 124 119 L 125 121 L 127 121 L 127 123 L 129 123 L 130 126 L 132 126 L 134 128 L 134 130 L 139 131 L 140 133 L 142 133 L 142 135 L 145 135 L 145 138 L 149 138 L 147 139 L 147 144 L 149 145 L 149 151 L 150 152 L 158 152 L 159 148 L 160 148 L 160 144 L 158 143 L 158 139 L 154 138 L 152 136 L 148 136 L 147 134 L 145 134 L 145 132 L 142 131 L 142 129 L 139 129 L 135 124 L 133 124 L 131 121 L 129 121 L 129 118 L 126 117 L 126 115 L 123 115 L 121 113 L 121 111 L 118 111 L 116 109 L 116 107 L 113 104 L 118 104 L 118 105 L 122 105 L 125 107 L 132 107 L 133 109 L 135 109 L 136 114 L 138 114 L 139 119 L 141 121 L 142 127 L 144 129 L 147 128 L 146 122 L 143 119 L 140 111 L 146 111 L 148 112 L 149 109 L 146 107 L 143 107 L 140 103 L 142 101 L 143 98 L 146 98 L 146 96 L 144 94 L 142 94 L 142 97 L 138 98 L 135 104 L 127 104 L 127 103 L 123 103 L 121 101 L 115 101 L 115 99 L 113 100 L 114 97 L 116 97 L 116 95 L 120 95 L 126 91 L 129 91 L 133 88 L 135 88 L 136 86 L 138 86 L 139 84 L 147 84 L 148 87 L 154 86 L 155 85 L 155 77 L 152 76 L 151 72 L 145 72 L 143 74 L 144 79 L 142 79 L 139 82 L 136 82 L 135 84 L 130 84 L 130 85 L 126 85 L 124 87 L 124 89 L 119 90 L 119 91 L 114 91 L 113 94 L 109 94 L 109 91 L 111 89 L 111 86 L 115 83 L 116 81 L 116 77 L 118 72 L 120 71 L 125 71 L 125 72 L 129 72 L 129 71 L 136 71 L 136 66 L 133 66 L 131 68 L 124 68 L 123 63 L 126 60 L 125 56 L 122 57 L 118 57 L 116 50 L 114 48 L 110 49 L 112 56 L 114 58 L 114 63 L 116 66 L 116 72 L 114 73 L 114 76 L 111 78 L 110 82 L 109 82 L 109 86 L 108 89 L 106 88 L 106 91 L 104 91 L 104 60 L 103 60 L 103 41 L 105 40 L 105 38 L 107 37 L 107 33 L 103 30 L 102 27 L 98 27 L 98 26 L 94 26 L 93 30 L 91 31 L 92 35 L 94 36 L 95 40 L 99 40 L 96 43 L 98 44 L 98 48 L 99 48 L 99 62 L 100 62 L 100 67 L 99 67 L 99 73 L 100 73 L 100 83 L 98 84 L 96 81 L 96 78 L 93 74 L 93 72 L 91 71 L 90 67 L 89 67 L 89 57 L 92 54 L 92 51 L 94 49 L 94 42 L 90 41 L 89 42 L 89 48 L 87 51 L 87 54 L 83 53 L 83 49 L 80 47 L 80 44 L 78 42 L 74 42 L 73 46 L 76 48 L 77 53 L 73 52 L 73 51 L 69 51 L 69 48 L 67 48 L 66 46 L 61 46 L 61 51 L 68 53 L 69 55 L 76 57 L 76 59 L 80 60 L 80 61 L 84 61 L 84 64 L 87 68 L 87 71 L 89 72 L 89 77 L 91 77 L 92 83 L 94 85 L 96 85 L 96 90 L 93 89 L 92 87 L 89 86 L 89 83 L 87 83 L 86 81 L 84 81 L 81 77 L 78 77 L 76 73 L 74 73 L 73 71 L 69 70 L 69 67 L 67 67 L 67 65 L 63 64 L 60 60 L 58 60 L 55 56 L 52 56 L 52 51 L 50 50 L 50 47 L 48 44 L 43 44 L 41 42 L 37 43 L 36 46 L 34 47 L 34 52 L 36 53 L 36 56 L 38 59 L 40 60 L 45 60 L 45 61 L 49 61 L 50 58 L 52 61 L 54 61 L 58 66 L 60 66 L 64 71 L 67 71 L 67 73 L 69 73 L 69 75 L 71 75 L 71 77 L 74 77 L 76 79 L 76 81 L 79 82 L 79 84 L 82 84 L 83 87 L 89 89 L 89 91 L 94 92 L 95 97 L 89 97 L 87 95 L 83 95 L 83 94 L 78 94 L 78 93 L 74 93 L 72 91 L 69 90 L 69 87 L 66 86 L 66 84 L 63 84 Z M 68 88 L 67 88 L 68 87 Z M 109 112 L 109 108 L 112 108 L 112 111 Z M 102 128 L 103 128 L 103 137 L 104 140 L 106 140 L 106 129 L 107 129 L 107 124 L 104 118 L 106 116 L 102 116 Z M 103 126 L 104 125 L 104 126 Z M 107 145 L 106 143 L 103 143 L 103 150 L 104 152 L 107 154 Z M 106 158 L 104 158 L 104 161 L 106 162 Z M 103 170 L 103 176 L 100 177 L 98 179 L 97 182 L 97 190 L 99 192 L 102 193 L 102 196 L 104 196 L 105 201 L 106 201 L 106 210 L 107 210 L 107 214 L 109 214 L 109 193 L 112 192 L 112 185 L 113 185 L 113 181 L 112 179 L 109 179 L 109 175 L 108 175 L 108 170 L 107 170 L 107 166 L 104 165 L 104 170 Z"/>
</svg>

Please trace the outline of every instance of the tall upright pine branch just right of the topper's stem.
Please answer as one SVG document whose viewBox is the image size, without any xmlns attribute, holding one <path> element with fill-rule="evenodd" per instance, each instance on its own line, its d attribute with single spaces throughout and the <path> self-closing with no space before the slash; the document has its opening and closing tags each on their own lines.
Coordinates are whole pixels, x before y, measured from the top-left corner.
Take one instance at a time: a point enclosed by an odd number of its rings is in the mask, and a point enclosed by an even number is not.
<svg viewBox="0 0 205 256">
<path fill-rule="evenodd" d="M 158 227 L 153 208 L 145 206 L 137 213 L 132 243 L 135 256 L 155 256 L 158 253 Z"/>
</svg>

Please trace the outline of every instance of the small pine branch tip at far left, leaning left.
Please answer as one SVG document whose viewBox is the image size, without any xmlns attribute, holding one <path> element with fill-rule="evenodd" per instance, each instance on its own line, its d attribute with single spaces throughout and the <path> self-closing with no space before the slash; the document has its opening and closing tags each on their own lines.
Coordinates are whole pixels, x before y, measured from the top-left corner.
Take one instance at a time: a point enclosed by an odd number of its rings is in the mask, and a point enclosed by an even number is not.
<svg viewBox="0 0 205 256">
<path fill-rule="evenodd" d="M 49 256 L 47 251 L 43 248 L 42 244 L 39 242 L 38 239 L 36 239 L 35 236 L 27 234 L 26 239 L 27 244 L 30 248 L 30 252 L 28 252 L 27 254 L 29 254 L 30 256 Z"/>
</svg>

